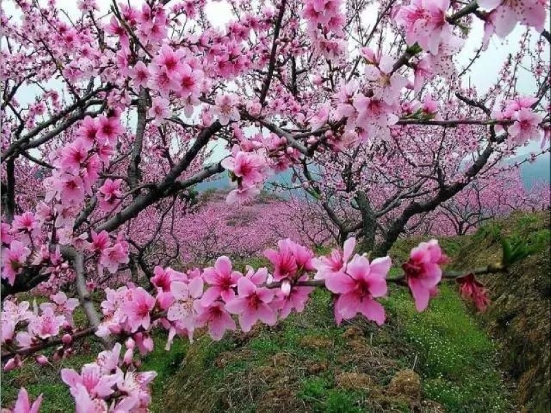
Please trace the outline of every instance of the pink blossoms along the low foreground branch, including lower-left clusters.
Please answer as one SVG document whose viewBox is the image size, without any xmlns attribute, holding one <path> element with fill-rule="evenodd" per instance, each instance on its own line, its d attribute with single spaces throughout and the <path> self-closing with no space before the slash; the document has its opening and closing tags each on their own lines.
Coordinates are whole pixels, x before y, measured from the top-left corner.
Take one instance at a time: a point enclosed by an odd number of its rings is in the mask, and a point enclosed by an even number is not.
<svg viewBox="0 0 551 413">
<path fill-rule="evenodd" d="M 390 257 L 370 262 L 365 255 L 352 256 L 353 238 L 346 241 L 345 251 L 335 249 L 326 257 L 315 257 L 291 240 L 282 240 L 279 247 L 266 251 L 273 273 L 267 268 L 247 267 L 243 274 L 232 269 L 228 257 L 220 257 L 214 267 L 186 273 L 157 267 L 152 292 L 132 283 L 116 290 L 107 288 L 101 302 L 103 321 L 92 330 L 72 325 L 70 315 L 75 306 L 63 293 L 52 295 L 55 304 L 44 303 L 34 311 L 29 310 L 27 301 L 6 300 L 1 313 L 2 359 L 8 354 L 12 358 L 4 370 L 20 367 L 29 357 L 47 363 L 45 356 L 36 354 L 52 345 L 57 346 L 55 360 L 69 357 L 74 341 L 86 335 L 116 337 L 125 342 L 122 359 L 123 346 L 116 343 L 112 350 L 98 354 L 95 363 L 85 364 L 81 374 L 64 369 L 61 377 L 70 386 L 77 411 L 87 412 L 92 407 L 98 411 L 139 410 L 151 401 L 149 383 L 156 373 L 136 371 L 134 350 L 141 355 L 152 352 L 154 328 L 167 331 L 167 350 L 174 337 L 192 340 L 200 328 L 207 328 L 212 339 L 220 340 L 228 330 L 236 330 L 232 315 L 238 316 L 240 329 L 248 332 L 259 322 L 273 326 L 293 310 L 302 312 L 315 286 L 333 294 L 337 324 L 360 313 L 381 325 L 385 313 L 377 299 L 386 296 L 389 282 L 408 284 L 417 310 L 425 310 L 441 280 L 440 265 L 446 262 L 436 240 L 423 242 L 413 248 L 410 260 L 403 265 L 404 275 L 389 279 Z M 472 273 L 448 278 L 457 279 L 461 295 L 484 310 L 488 299 Z M 56 336 L 63 337 L 58 340 Z"/>
</svg>

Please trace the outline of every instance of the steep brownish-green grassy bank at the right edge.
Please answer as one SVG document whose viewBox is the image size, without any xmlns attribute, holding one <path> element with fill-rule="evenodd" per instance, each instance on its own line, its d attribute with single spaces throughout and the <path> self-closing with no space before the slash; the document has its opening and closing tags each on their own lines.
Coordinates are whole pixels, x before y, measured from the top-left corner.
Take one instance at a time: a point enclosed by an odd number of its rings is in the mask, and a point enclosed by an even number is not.
<svg viewBox="0 0 551 413">
<path fill-rule="evenodd" d="M 515 399 L 525 412 L 550 412 L 551 276 L 548 213 L 516 213 L 490 222 L 471 237 L 459 253 L 457 268 L 472 268 L 501 257 L 500 240 L 517 238 L 534 253 L 514 264 L 508 274 L 484 279 L 492 304 L 482 317 L 503 344 L 503 366 L 517 381 Z"/>
</svg>

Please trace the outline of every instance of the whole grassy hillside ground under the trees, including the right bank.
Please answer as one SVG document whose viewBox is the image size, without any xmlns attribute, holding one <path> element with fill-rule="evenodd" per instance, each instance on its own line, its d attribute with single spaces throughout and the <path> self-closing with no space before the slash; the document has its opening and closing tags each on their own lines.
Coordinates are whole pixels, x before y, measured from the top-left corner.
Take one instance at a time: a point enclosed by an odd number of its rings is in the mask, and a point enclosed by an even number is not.
<svg viewBox="0 0 551 413">
<path fill-rule="evenodd" d="M 455 268 L 499 260 L 501 237 L 537 247 L 508 275 L 484 279 L 493 301 L 483 316 L 459 299 L 451 283 L 441 286 L 424 313 L 417 313 L 406 290 L 392 288 L 384 326 L 360 317 L 335 326 L 331 297 L 318 290 L 304 313 L 273 328 L 260 326 L 220 342 L 205 335 L 191 344 L 177 339 L 170 352 L 159 335 L 142 366 L 159 374 L 152 411 L 547 412 L 548 224 L 545 214 L 517 214 L 475 235 L 441 240 Z M 395 262 L 405 260 L 417 242 L 397 242 Z M 45 394 L 41 412 L 67 411 L 72 399 L 59 370 L 91 361 L 98 348 L 83 343 L 77 350 L 72 359 L 44 368 L 25 363 L 3 374 L 3 402 L 11 403 L 24 385 L 32 396 Z"/>
</svg>

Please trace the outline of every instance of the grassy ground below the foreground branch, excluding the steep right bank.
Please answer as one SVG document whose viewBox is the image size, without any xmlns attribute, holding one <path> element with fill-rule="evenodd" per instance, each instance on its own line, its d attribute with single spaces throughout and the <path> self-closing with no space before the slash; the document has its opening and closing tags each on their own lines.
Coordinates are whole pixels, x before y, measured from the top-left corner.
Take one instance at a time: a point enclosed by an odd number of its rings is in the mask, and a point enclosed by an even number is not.
<svg viewBox="0 0 551 413">
<path fill-rule="evenodd" d="M 393 248 L 403 260 L 418 240 Z M 450 255 L 461 240 L 444 240 Z M 254 262 L 261 265 L 262 262 Z M 393 290 L 386 300 L 388 320 L 376 328 L 362 319 L 337 327 L 330 297 L 316 291 L 303 314 L 274 328 L 229 335 L 214 343 L 198 337 L 189 345 L 176 339 L 165 352 L 163 339 L 143 369 L 156 370 L 154 412 L 508 412 L 510 398 L 495 361 L 495 345 L 466 310 L 453 288 L 443 286 L 428 311 L 418 314 L 408 293 Z M 79 366 L 94 348 L 63 366 Z M 397 372 L 422 377 L 422 396 L 389 390 Z M 70 410 L 70 395 L 59 380 L 61 365 L 28 366 L 3 374 L 3 402 L 25 385 L 44 392 L 43 412 Z M 6 378 L 8 383 L 6 384 Z"/>
</svg>

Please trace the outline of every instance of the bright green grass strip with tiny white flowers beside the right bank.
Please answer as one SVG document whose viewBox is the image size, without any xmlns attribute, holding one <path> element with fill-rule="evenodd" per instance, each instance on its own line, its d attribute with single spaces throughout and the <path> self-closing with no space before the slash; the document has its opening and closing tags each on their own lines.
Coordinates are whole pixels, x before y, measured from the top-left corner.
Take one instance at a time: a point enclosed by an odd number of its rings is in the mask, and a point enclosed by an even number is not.
<svg viewBox="0 0 551 413">
<path fill-rule="evenodd" d="M 417 313 L 404 290 L 393 291 L 386 308 L 397 318 L 400 334 L 415 348 L 428 399 L 448 412 L 508 412 L 495 344 L 466 311 L 448 285 L 440 288 L 424 313 Z"/>
</svg>

